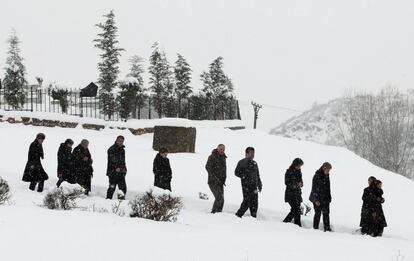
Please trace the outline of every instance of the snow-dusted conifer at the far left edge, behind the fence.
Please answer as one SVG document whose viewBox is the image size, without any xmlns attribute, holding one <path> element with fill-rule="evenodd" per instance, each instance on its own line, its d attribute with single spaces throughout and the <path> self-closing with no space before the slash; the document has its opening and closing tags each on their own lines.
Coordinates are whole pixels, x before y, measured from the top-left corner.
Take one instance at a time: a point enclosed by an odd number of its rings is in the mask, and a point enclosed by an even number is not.
<svg viewBox="0 0 414 261">
<path fill-rule="evenodd" d="M 27 84 L 27 81 L 25 78 L 26 67 L 20 55 L 20 40 L 17 37 L 16 31 L 13 30 L 7 43 L 9 44 L 9 51 L 7 52 L 6 73 L 3 80 L 4 97 L 10 106 L 18 109 L 24 104 L 24 86 Z"/>
</svg>

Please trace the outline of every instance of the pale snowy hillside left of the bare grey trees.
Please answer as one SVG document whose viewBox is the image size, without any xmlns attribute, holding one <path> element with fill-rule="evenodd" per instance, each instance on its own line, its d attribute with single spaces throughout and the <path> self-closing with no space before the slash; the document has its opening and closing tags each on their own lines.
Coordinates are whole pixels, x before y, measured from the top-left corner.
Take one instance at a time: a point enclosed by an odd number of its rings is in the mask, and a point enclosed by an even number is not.
<svg viewBox="0 0 414 261">
<path fill-rule="evenodd" d="M 337 138 L 339 132 L 336 126 L 341 107 L 341 99 L 316 105 L 273 128 L 270 134 L 321 144 L 341 145 Z"/>
</svg>

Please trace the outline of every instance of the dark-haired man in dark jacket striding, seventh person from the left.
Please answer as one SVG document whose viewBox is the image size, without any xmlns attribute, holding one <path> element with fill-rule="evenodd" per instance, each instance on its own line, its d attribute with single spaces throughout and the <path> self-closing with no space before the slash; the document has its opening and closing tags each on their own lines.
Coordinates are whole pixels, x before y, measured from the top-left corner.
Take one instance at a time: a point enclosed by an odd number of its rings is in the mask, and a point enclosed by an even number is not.
<svg viewBox="0 0 414 261">
<path fill-rule="evenodd" d="M 258 193 L 262 191 L 262 181 L 260 180 L 259 167 L 254 159 L 254 148 L 246 149 L 246 157 L 237 164 L 235 175 L 241 179 L 243 202 L 236 216 L 242 217 L 247 209 L 250 215 L 257 217 Z"/>
</svg>

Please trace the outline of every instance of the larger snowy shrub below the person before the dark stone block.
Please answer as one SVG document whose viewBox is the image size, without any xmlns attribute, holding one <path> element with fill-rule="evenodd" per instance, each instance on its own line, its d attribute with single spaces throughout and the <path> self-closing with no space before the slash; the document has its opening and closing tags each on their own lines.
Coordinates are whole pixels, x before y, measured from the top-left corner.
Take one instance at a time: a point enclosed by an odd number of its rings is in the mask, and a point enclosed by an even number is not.
<svg viewBox="0 0 414 261">
<path fill-rule="evenodd" d="M 152 190 L 145 192 L 144 195 L 138 195 L 129 202 L 129 205 L 132 210 L 131 217 L 169 222 L 176 221 L 183 208 L 180 197 L 170 194 L 155 195 Z"/>
</svg>

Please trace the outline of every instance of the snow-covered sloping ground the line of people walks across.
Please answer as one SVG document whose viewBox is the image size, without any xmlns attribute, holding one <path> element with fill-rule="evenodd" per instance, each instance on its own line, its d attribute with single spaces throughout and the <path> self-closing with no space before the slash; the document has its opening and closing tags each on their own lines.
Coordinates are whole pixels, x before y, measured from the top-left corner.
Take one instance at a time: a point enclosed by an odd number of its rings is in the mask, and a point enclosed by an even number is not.
<svg viewBox="0 0 414 261">
<path fill-rule="evenodd" d="M 44 132 L 43 166 L 51 177 L 42 194 L 21 182 L 27 150 L 36 133 Z M 108 208 L 105 200 L 106 150 L 115 137 L 126 137 L 127 199 L 151 188 L 152 134 L 129 131 L 40 128 L 0 123 L 0 176 L 13 190 L 12 204 L 0 207 L 1 260 L 376 260 L 390 261 L 399 253 L 414 260 L 414 182 L 373 166 L 346 149 L 298 141 L 260 131 L 231 131 L 197 126 L 195 154 L 171 154 L 173 192 L 182 196 L 185 209 L 176 223 L 160 223 L 92 211 L 52 211 L 40 207 L 56 183 L 56 153 L 60 142 L 90 140 L 94 158 L 92 195 L 81 201 L 89 209 Z M 210 214 L 212 196 L 204 165 L 211 150 L 227 145 L 228 181 L 224 213 Z M 242 200 L 240 181 L 233 174 L 246 146 L 256 148 L 263 181 L 259 218 L 239 219 L 234 213 Z M 303 198 L 307 202 L 313 173 L 324 161 L 333 165 L 331 222 L 335 232 L 311 229 L 312 215 L 303 228 L 284 224 L 289 207 L 283 201 L 284 173 L 293 158 L 305 161 Z M 383 238 L 361 236 L 358 228 L 361 194 L 366 180 L 383 180 L 384 212 L 388 227 Z M 206 192 L 210 200 L 198 198 Z M 123 203 L 124 205 L 127 202 Z M 125 207 L 125 206 L 124 206 Z M 401 260 L 401 259 L 400 259 Z"/>
</svg>

